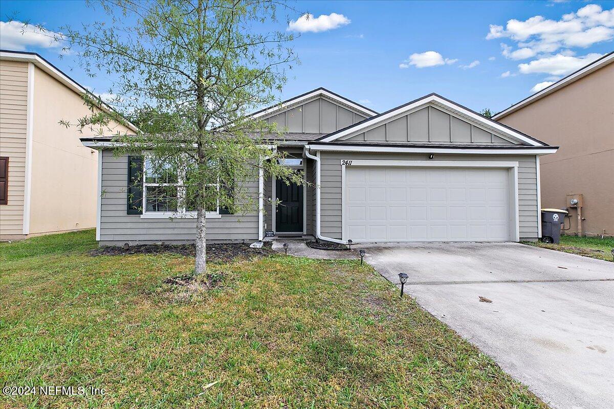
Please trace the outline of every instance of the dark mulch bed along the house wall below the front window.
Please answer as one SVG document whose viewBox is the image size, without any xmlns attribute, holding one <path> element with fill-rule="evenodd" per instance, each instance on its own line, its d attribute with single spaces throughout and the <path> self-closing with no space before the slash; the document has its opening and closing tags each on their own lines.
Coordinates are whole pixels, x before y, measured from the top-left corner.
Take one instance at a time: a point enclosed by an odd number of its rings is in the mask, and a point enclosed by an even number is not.
<svg viewBox="0 0 614 409">
<path fill-rule="evenodd" d="M 196 254 L 193 244 L 139 244 L 124 249 L 122 246 L 104 246 L 90 250 L 90 256 L 125 256 L 127 254 L 180 254 L 181 256 L 194 257 Z M 273 253 L 271 244 L 265 243 L 262 248 L 251 248 L 246 243 L 223 243 L 208 244 L 208 261 L 231 261 L 244 257 L 266 256 Z"/>
</svg>

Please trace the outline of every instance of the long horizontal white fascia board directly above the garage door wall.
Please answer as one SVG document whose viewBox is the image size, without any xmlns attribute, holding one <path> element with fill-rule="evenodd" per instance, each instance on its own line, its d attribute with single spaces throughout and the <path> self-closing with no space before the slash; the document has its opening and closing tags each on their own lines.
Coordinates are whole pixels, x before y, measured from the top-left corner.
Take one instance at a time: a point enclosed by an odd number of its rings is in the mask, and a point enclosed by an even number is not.
<svg viewBox="0 0 614 409">
<path fill-rule="evenodd" d="M 459 153 L 467 155 L 489 154 L 489 155 L 548 155 L 556 153 L 558 148 L 544 147 L 543 149 L 523 149 L 523 148 L 449 148 L 433 146 L 428 148 L 417 147 L 378 147 L 360 145 L 308 145 L 308 149 L 314 151 L 341 151 L 341 152 L 386 152 L 386 153 Z"/>
</svg>

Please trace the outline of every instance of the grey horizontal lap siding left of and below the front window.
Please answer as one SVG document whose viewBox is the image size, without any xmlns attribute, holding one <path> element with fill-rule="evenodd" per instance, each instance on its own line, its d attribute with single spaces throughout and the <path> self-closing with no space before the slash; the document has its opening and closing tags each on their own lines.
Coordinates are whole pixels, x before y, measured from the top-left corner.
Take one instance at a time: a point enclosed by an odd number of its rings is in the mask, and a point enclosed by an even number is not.
<svg viewBox="0 0 614 409">
<path fill-rule="evenodd" d="M 100 245 L 123 243 L 185 243 L 196 237 L 196 219 L 141 218 L 126 213 L 128 194 L 128 156 L 102 153 Z M 258 181 L 247 185 L 258 196 Z M 258 212 L 208 218 L 207 240 L 211 242 L 254 242 L 258 240 Z"/>
</svg>

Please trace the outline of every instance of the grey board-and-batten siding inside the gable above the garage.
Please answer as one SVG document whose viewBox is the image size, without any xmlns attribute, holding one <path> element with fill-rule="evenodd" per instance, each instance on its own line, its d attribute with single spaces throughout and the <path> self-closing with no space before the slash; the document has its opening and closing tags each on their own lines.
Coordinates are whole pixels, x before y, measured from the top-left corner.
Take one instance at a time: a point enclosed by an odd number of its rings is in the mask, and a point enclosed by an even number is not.
<svg viewBox="0 0 614 409">
<path fill-rule="evenodd" d="M 471 124 L 434 106 L 424 107 L 409 114 L 392 118 L 384 124 L 374 124 L 365 132 L 340 140 L 352 142 L 433 142 L 478 143 L 480 145 L 513 145 L 502 136 Z"/>
</svg>

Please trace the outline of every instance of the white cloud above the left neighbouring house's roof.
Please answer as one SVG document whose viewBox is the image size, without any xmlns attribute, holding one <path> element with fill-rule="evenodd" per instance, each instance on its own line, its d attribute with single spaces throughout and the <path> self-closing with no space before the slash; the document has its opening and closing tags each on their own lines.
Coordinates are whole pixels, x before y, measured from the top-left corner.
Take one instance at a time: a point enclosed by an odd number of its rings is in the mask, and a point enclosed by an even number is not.
<svg viewBox="0 0 614 409">
<path fill-rule="evenodd" d="M 57 32 L 21 21 L 0 21 L 0 48 L 4 50 L 24 51 L 28 48 L 62 48 L 64 46 L 66 42 Z"/>
</svg>

